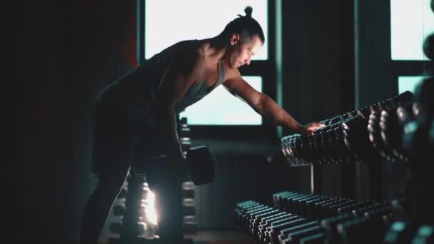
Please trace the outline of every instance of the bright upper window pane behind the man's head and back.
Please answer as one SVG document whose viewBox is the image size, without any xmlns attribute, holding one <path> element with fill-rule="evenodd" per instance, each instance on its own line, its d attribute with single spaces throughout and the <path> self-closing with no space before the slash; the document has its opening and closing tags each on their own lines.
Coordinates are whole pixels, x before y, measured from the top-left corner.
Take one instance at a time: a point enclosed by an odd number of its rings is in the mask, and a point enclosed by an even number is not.
<svg viewBox="0 0 434 244">
<path fill-rule="evenodd" d="M 266 42 L 252 60 L 268 59 L 267 0 L 146 0 L 145 59 L 178 41 L 217 36 L 226 24 L 253 7 L 253 18 L 261 24 Z"/>
</svg>

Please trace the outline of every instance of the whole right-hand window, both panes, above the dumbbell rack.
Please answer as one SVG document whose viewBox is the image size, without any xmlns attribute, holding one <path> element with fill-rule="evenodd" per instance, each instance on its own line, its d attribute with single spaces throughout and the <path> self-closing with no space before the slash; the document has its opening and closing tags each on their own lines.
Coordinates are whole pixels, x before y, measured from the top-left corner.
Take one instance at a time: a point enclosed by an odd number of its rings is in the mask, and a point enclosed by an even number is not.
<svg viewBox="0 0 434 244">
<path fill-rule="evenodd" d="M 430 0 L 390 0 L 390 54 L 398 93 L 415 91 L 428 70 L 423 42 L 434 34 Z"/>
</svg>

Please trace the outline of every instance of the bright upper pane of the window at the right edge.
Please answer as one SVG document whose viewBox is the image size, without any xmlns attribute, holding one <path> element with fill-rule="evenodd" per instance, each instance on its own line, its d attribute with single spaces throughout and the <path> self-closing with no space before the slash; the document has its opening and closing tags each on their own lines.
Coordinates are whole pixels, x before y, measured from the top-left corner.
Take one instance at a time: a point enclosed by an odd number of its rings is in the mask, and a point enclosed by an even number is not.
<svg viewBox="0 0 434 244">
<path fill-rule="evenodd" d="M 425 60 L 423 41 L 434 32 L 430 0 L 390 0 L 393 60 Z"/>
</svg>

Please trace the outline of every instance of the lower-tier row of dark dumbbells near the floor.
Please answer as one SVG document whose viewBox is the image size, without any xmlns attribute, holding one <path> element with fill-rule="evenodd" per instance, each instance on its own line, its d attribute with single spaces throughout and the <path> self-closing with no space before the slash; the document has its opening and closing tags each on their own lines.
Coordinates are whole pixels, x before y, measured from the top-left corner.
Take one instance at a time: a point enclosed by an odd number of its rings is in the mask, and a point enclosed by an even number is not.
<svg viewBox="0 0 434 244">
<path fill-rule="evenodd" d="M 288 191 L 273 194 L 273 207 L 248 200 L 235 210 L 255 243 L 378 243 L 394 212 L 391 203 Z"/>
</svg>

